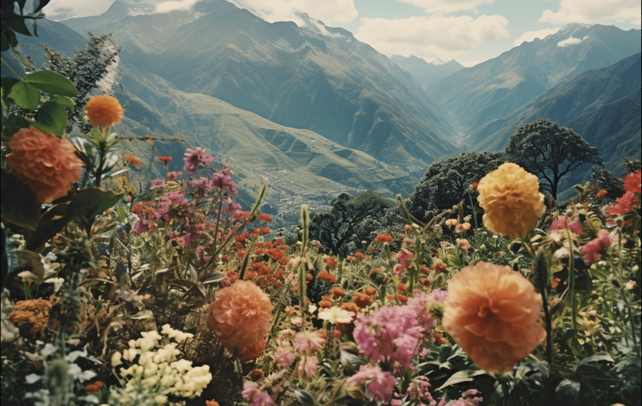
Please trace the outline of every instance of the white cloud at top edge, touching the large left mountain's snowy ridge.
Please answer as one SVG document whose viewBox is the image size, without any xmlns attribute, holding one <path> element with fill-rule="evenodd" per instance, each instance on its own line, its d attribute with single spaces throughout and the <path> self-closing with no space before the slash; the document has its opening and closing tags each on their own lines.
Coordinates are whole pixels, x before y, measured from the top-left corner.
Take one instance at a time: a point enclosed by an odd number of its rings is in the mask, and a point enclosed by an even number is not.
<svg viewBox="0 0 642 406">
<path fill-rule="evenodd" d="M 308 15 L 325 24 L 333 22 L 348 23 L 357 17 L 354 0 L 230 0 L 241 8 L 247 8 L 262 19 L 274 21 L 294 21 L 304 23 L 297 13 Z"/>
</svg>

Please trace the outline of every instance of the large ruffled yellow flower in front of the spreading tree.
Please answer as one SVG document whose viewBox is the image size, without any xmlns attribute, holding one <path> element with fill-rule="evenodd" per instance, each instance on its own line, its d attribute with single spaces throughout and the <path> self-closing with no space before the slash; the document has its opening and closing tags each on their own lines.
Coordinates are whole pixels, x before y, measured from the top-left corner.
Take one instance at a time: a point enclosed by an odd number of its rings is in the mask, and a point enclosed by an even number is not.
<svg viewBox="0 0 642 406">
<path fill-rule="evenodd" d="M 525 237 L 546 211 L 537 176 L 511 162 L 484 176 L 477 190 L 483 225 L 511 239 Z"/>
</svg>

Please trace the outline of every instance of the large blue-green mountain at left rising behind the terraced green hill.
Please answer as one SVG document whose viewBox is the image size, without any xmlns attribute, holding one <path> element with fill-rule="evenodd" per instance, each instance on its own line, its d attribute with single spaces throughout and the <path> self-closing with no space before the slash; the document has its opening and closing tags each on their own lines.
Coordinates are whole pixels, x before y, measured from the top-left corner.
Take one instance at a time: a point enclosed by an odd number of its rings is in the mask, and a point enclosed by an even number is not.
<svg viewBox="0 0 642 406">
<path fill-rule="evenodd" d="M 349 31 L 304 14 L 302 27 L 270 23 L 223 0 L 146 15 L 129 15 L 127 4 L 117 0 L 85 27 L 112 33 L 123 63 L 141 74 L 315 131 L 388 164 L 425 167 L 457 151 L 459 136 L 438 104 Z M 80 22 L 63 21 L 76 30 Z"/>
</svg>

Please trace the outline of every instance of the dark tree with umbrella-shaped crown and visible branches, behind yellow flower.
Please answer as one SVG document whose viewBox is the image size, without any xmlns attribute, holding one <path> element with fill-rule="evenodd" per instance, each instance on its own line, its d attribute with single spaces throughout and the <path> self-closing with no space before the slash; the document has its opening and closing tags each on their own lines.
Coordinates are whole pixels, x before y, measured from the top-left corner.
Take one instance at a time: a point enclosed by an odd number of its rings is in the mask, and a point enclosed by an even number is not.
<svg viewBox="0 0 642 406">
<path fill-rule="evenodd" d="M 562 176 L 584 164 L 602 165 L 596 147 L 570 128 L 559 127 L 548 119 L 519 128 L 510 137 L 506 153 L 510 160 L 537 175 L 555 199 Z"/>
</svg>

